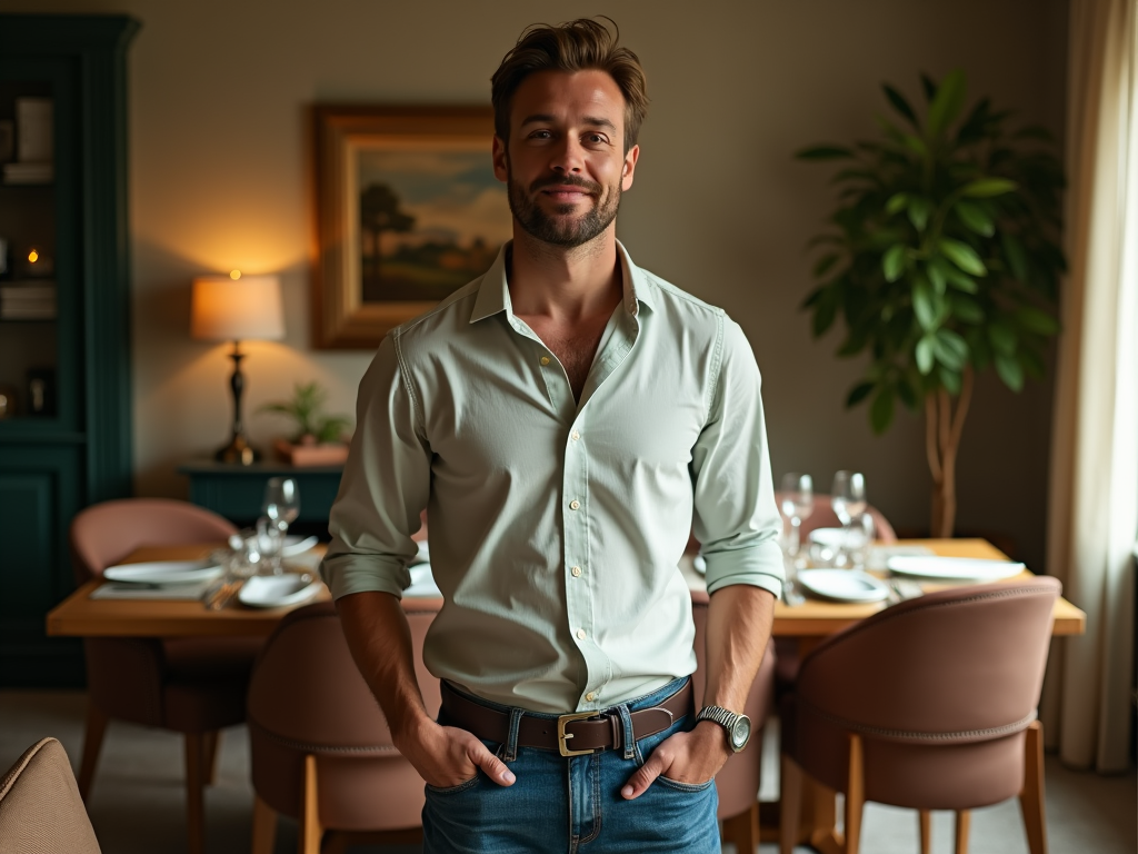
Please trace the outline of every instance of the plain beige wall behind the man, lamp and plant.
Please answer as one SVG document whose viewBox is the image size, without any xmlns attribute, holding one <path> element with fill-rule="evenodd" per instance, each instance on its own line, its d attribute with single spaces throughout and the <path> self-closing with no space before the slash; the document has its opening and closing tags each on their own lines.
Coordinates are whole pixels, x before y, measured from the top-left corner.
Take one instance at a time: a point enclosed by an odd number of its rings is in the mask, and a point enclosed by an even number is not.
<svg viewBox="0 0 1138 854">
<path fill-rule="evenodd" d="M 196 273 L 279 272 L 288 337 L 253 344 L 249 411 L 319 379 L 354 405 L 366 353 L 308 347 L 310 198 L 304 107 L 323 100 L 486 102 L 523 25 L 603 10 L 644 60 L 652 112 L 620 235 L 633 257 L 742 323 L 765 373 L 776 475 L 866 473 L 901 527 L 926 524 L 922 426 L 883 438 L 847 413 L 858 362 L 811 340 L 798 311 L 806 239 L 831 206 L 826 171 L 791 153 L 874 132 L 877 84 L 963 66 L 973 92 L 1058 131 L 1064 0 L 0 0 L 5 11 L 126 11 L 134 254 L 135 465 L 140 494 L 183 495 L 174 473 L 226 438 L 225 347 L 189 337 Z M 1062 136 L 1061 133 L 1058 136 Z M 960 460 L 964 528 L 1011 534 L 1040 565 L 1050 385 L 979 386 Z M 248 419 L 255 442 L 281 430 Z"/>
</svg>

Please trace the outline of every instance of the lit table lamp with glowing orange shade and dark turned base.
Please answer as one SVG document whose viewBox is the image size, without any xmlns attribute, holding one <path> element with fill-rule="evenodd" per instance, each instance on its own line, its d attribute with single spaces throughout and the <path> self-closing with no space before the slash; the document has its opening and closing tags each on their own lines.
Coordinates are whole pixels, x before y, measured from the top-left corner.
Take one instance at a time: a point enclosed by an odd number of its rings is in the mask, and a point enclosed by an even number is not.
<svg viewBox="0 0 1138 854">
<path fill-rule="evenodd" d="M 241 425 L 242 340 L 272 340 L 284 337 L 284 312 L 281 309 L 281 285 L 275 276 L 201 276 L 193 280 L 190 332 L 203 340 L 231 340 L 233 376 L 233 435 L 229 444 L 215 454 L 222 462 L 242 466 L 256 462 L 259 454 L 249 444 Z"/>
</svg>

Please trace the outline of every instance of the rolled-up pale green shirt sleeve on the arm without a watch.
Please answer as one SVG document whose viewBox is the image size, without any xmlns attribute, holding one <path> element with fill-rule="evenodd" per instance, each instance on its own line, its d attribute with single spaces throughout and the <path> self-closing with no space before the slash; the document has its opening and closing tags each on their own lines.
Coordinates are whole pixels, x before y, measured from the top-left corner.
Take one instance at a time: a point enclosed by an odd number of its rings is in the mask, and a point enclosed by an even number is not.
<svg viewBox="0 0 1138 854">
<path fill-rule="evenodd" d="M 411 584 L 407 564 L 418 550 L 411 535 L 427 504 L 431 452 L 396 336 L 384 339 L 360 383 L 356 432 L 320 567 L 333 599 L 364 591 L 402 597 Z"/>
</svg>

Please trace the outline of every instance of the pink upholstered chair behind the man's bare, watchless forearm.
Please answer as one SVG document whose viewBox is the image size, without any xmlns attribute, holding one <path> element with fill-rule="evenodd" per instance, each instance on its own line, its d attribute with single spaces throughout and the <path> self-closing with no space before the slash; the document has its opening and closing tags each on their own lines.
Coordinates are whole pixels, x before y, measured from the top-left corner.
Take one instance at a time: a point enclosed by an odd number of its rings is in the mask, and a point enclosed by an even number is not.
<svg viewBox="0 0 1138 854">
<path fill-rule="evenodd" d="M 404 599 L 427 711 L 440 703 L 422 663 L 442 599 Z M 265 643 L 249 684 L 254 854 L 273 849 L 277 816 L 300 822 L 302 854 L 422 840 L 423 782 L 391 742 L 382 711 L 348 651 L 336 607 L 292 611 Z"/>
</svg>

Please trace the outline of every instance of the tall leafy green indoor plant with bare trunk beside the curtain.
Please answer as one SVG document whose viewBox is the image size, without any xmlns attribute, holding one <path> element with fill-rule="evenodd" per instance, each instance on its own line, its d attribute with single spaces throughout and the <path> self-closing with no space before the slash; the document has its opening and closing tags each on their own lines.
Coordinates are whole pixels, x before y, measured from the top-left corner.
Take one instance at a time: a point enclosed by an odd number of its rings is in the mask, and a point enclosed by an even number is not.
<svg viewBox="0 0 1138 854">
<path fill-rule="evenodd" d="M 975 372 L 993 367 L 1019 392 L 1044 375 L 1058 330 L 1063 171 L 1045 129 L 1009 132 L 1011 113 L 987 98 L 965 114 L 963 72 L 921 80 L 923 115 L 887 84 L 900 121 L 879 120 L 879 139 L 798 153 L 843 166 L 833 228 L 811 240 L 823 254 L 805 307 L 816 337 L 841 319 L 839 355 L 868 352 L 847 405 L 868 401 L 875 433 L 897 401 L 924 408 L 932 535 L 950 536 Z"/>
</svg>

